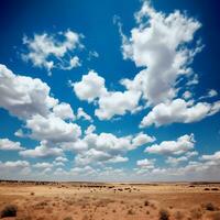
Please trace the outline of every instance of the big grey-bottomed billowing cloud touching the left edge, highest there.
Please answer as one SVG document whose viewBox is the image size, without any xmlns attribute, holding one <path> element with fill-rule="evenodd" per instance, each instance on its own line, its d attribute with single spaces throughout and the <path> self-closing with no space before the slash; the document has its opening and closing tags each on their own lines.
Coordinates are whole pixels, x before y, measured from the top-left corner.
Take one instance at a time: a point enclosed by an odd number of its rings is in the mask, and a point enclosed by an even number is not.
<svg viewBox="0 0 220 220">
<path fill-rule="evenodd" d="M 14 75 L 0 65 L 0 107 L 21 119 L 36 113 L 46 116 L 57 100 L 50 96 L 51 88 L 41 79 Z"/>
</svg>

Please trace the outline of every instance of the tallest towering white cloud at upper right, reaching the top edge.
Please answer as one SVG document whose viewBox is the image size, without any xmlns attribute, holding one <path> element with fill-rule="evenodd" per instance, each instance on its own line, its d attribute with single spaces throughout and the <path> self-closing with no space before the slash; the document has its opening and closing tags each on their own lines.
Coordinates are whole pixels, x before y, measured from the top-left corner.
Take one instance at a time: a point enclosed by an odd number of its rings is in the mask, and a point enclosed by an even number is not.
<svg viewBox="0 0 220 220">
<path fill-rule="evenodd" d="M 127 87 L 141 90 L 150 105 L 172 100 L 177 94 L 177 79 L 191 75 L 189 64 L 201 50 L 187 47 L 201 24 L 179 11 L 168 15 L 156 12 L 148 1 L 136 13 L 136 21 L 139 26 L 131 30 L 130 38 L 122 34 L 123 57 L 146 68 L 127 80 Z"/>
</svg>

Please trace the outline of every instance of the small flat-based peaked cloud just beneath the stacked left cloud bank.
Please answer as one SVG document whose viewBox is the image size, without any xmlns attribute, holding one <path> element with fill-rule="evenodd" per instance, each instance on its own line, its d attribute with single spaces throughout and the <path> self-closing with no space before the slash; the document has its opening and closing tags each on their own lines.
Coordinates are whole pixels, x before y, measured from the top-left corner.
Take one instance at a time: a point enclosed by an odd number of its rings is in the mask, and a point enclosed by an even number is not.
<svg viewBox="0 0 220 220">
<path fill-rule="evenodd" d="M 63 150 L 51 146 L 47 141 L 42 141 L 35 148 L 21 151 L 19 154 L 24 157 L 55 157 L 62 156 Z"/>
</svg>

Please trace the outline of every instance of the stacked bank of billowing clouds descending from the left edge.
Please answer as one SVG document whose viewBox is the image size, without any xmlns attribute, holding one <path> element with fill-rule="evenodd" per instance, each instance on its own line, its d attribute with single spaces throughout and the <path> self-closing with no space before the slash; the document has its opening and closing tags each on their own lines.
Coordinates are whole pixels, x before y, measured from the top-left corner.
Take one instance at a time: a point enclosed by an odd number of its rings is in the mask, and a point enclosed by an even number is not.
<svg viewBox="0 0 220 220">
<path fill-rule="evenodd" d="M 58 155 L 62 150 L 57 148 L 57 144 L 74 142 L 81 135 L 80 127 L 73 123 L 75 114 L 72 107 L 53 98 L 51 88 L 41 79 L 15 75 L 0 65 L 0 107 L 25 123 L 28 133 L 20 129 L 15 134 L 41 141 L 35 150 L 24 150 L 20 155 Z M 4 148 L 21 150 L 18 143 L 9 140 L 3 140 L 2 144 Z"/>
</svg>

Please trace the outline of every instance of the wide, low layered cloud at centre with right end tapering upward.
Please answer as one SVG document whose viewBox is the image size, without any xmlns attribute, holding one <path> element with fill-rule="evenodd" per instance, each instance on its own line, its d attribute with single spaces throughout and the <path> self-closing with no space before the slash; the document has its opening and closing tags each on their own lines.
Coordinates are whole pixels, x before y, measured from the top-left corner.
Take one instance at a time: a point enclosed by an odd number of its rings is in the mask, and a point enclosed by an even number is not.
<svg viewBox="0 0 220 220">
<path fill-rule="evenodd" d="M 111 133 L 88 133 L 82 140 L 72 145 L 79 154 L 75 157 L 78 165 L 92 163 L 122 163 L 129 158 L 124 157 L 127 152 L 154 141 L 154 138 L 140 133 L 138 135 L 118 138 Z"/>
</svg>

